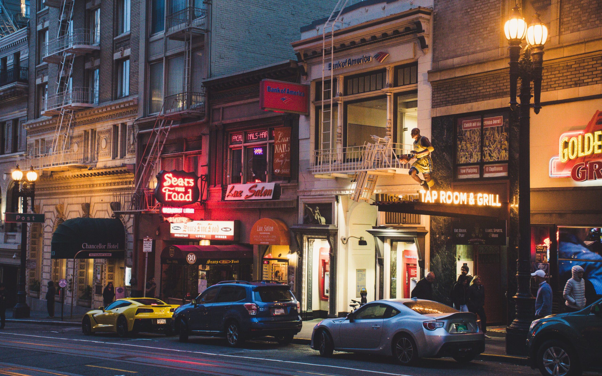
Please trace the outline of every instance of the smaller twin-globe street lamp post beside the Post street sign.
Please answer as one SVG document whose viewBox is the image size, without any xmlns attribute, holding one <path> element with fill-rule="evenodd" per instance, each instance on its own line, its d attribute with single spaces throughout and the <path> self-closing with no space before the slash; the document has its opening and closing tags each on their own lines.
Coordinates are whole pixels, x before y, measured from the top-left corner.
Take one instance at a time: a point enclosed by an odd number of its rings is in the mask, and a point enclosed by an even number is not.
<svg viewBox="0 0 602 376">
<path fill-rule="evenodd" d="M 27 212 L 28 197 L 31 197 L 31 206 L 34 203 L 34 191 L 36 190 L 37 173 L 33 167 L 27 171 L 23 179 L 23 171 L 19 165 L 12 173 L 13 180 L 19 184 L 19 197 L 22 198 L 22 212 Z M 21 224 L 21 265 L 19 271 L 19 292 L 17 292 L 17 304 L 14 306 L 13 318 L 29 317 L 29 306 L 25 300 L 25 264 L 27 260 L 27 224 Z"/>
</svg>

